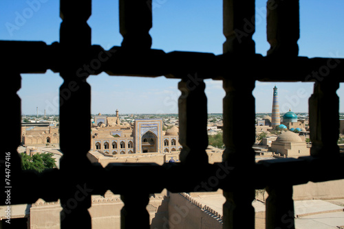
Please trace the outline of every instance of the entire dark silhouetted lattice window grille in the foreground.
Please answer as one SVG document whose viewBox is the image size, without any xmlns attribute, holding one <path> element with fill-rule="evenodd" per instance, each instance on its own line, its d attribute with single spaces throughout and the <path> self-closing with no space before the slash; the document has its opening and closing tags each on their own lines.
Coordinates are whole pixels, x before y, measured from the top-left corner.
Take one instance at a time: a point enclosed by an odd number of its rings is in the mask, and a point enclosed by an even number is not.
<svg viewBox="0 0 344 229">
<path fill-rule="evenodd" d="M 206 182 L 215 176 L 219 167 L 224 167 L 228 171 L 226 177 L 207 190 L 224 190 L 224 228 L 255 227 L 251 202 L 255 189 L 264 187 L 269 193 L 266 228 L 294 228 L 294 219 L 290 216 L 290 212 L 294 212 L 292 186 L 308 181 L 344 178 L 344 156 L 339 153 L 336 144 L 339 124 L 327 123 L 327 119 L 338 120 L 336 90 L 339 82 L 343 82 L 344 60 L 333 59 L 338 66 L 331 69 L 326 77 L 312 77 L 312 71 L 332 60 L 298 56 L 299 1 L 269 0 L 267 10 L 267 35 L 271 46 L 267 56 L 255 53 L 252 40 L 255 28 L 245 25 L 247 20 L 252 19 L 254 25 L 254 0 L 224 0 L 224 54 L 164 53 L 151 49 L 151 0 L 120 0 L 122 45 L 109 50 L 111 58 L 95 74 L 104 71 L 109 75 L 128 77 L 164 75 L 181 80 L 178 84 L 182 91 L 179 99 L 181 163 L 162 166 L 113 163 L 104 169 L 98 164 L 91 164 L 86 158 L 90 146 L 91 91 L 86 82 L 88 75 L 78 74 L 78 69 L 97 58 L 100 52 L 109 52 L 98 45 L 91 45 L 91 28 L 87 25 L 91 0 L 61 0 L 63 22 L 58 43 L 46 45 L 39 41 L 1 40 L 1 71 L 3 85 L 7 89 L 3 107 L 14 116 L 12 122 L 2 123 L 4 130 L 12 131 L 4 136 L 6 144 L 1 147 L 1 167 L 5 152 L 11 152 L 11 204 L 30 204 L 41 197 L 47 202 L 61 199 L 65 209 L 80 186 L 92 190 L 92 195 L 103 195 L 110 189 L 120 194 L 125 204 L 121 211 L 122 228 L 149 228 L 146 206 L 150 193 L 160 193 L 164 188 L 171 192 L 195 191 L 200 182 Z M 60 93 L 70 91 L 71 95 L 60 106 L 61 169 L 49 169 L 38 174 L 21 171 L 20 158 L 15 153 L 21 139 L 21 99 L 17 91 L 21 87 L 21 73 L 44 73 L 47 69 L 60 73 L 64 80 Z M 203 80 L 208 78 L 222 80 L 226 91 L 223 101 L 226 150 L 223 162 L 214 165 L 208 165 L 205 152 L 208 139 Z M 255 99 L 252 90 L 256 80 L 315 82 L 314 93 L 309 99 L 311 156 L 255 163 L 251 146 L 255 141 Z M 245 106 L 242 106 L 243 101 Z M 80 114 L 80 134 L 74 135 L 71 131 L 74 126 L 73 119 L 69 119 L 71 113 Z M 238 119 L 245 122 L 239 123 Z M 249 138 L 241 138 L 243 134 L 248 134 Z M 287 170 L 289 176 L 281 178 L 280 174 Z M 114 174 L 122 176 L 116 176 L 116 182 L 109 182 L 107 178 L 114 177 Z M 150 174 L 155 174 L 159 182 L 151 180 Z M 1 198 L 2 205 L 5 205 L 4 200 L 6 198 Z M 61 228 L 91 228 L 87 211 L 90 206 L 91 195 L 87 195 L 63 215 Z"/>
</svg>

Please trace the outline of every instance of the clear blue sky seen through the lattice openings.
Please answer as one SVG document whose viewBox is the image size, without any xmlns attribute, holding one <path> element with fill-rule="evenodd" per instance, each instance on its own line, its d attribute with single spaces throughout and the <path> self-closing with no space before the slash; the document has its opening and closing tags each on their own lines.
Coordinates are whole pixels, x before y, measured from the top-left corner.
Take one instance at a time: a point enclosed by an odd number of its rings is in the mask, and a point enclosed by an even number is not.
<svg viewBox="0 0 344 229">
<path fill-rule="evenodd" d="M 1 0 L 1 40 L 43 40 L 50 45 L 58 41 L 59 2 L 57 0 Z M 266 41 L 266 1 L 256 1 L 256 52 L 266 55 L 270 45 Z M 299 56 L 344 57 L 344 1 L 301 0 Z M 118 1 L 92 3 L 92 44 L 104 49 L 119 46 Z M 153 0 L 153 49 L 170 51 L 200 51 L 222 53 L 221 0 Z M 153 64 L 154 66 L 154 64 Z M 87 82 L 92 86 L 92 113 L 176 113 L 178 112 L 178 81 L 158 77 L 115 77 L 105 73 L 92 75 Z M 35 114 L 36 107 L 43 114 L 58 114 L 58 87 L 61 77 L 45 74 L 23 74 L 19 96 L 22 112 Z M 308 97 L 312 83 L 256 82 L 253 95 L 256 112 L 271 112 L 272 88 L 279 88 L 281 112 L 291 108 L 308 112 Z M 224 97 L 221 81 L 206 80 L 208 112 L 222 112 Z M 339 97 L 344 90 L 339 88 Z M 344 100 L 344 99 L 343 99 Z M 340 104 L 344 111 L 344 102 Z"/>
</svg>

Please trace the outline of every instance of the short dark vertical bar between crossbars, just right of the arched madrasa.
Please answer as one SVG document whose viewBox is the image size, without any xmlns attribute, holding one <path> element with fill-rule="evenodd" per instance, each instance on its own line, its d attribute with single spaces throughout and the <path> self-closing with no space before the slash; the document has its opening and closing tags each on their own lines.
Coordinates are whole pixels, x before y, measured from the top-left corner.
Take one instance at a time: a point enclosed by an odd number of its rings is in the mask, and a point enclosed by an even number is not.
<svg viewBox="0 0 344 229">
<path fill-rule="evenodd" d="M 207 99 L 204 93 L 205 84 L 197 73 L 189 74 L 178 84 L 182 92 L 178 99 L 180 121 L 180 161 L 189 165 L 208 163 L 206 147 L 208 146 Z M 195 137 L 195 133 L 197 134 Z"/>
</svg>

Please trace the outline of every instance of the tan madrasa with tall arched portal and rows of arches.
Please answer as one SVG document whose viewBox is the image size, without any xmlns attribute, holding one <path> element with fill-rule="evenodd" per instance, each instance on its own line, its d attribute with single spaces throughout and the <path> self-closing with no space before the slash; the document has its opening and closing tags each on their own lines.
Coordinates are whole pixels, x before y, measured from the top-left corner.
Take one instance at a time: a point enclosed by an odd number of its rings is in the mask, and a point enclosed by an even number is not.
<svg viewBox="0 0 344 229">
<path fill-rule="evenodd" d="M 111 162 L 108 159 L 114 158 L 117 162 L 129 162 L 160 154 L 161 162 L 178 162 L 182 150 L 179 129 L 173 126 L 164 132 L 162 126 L 162 119 L 136 119 L 133 125 L 121 123 L 118 110 L 116 117 L 98 114 L 92 122 L 90 160 L 93 157 L 92 161 L 100 162 L 103 158 Z"/>
</svg>

